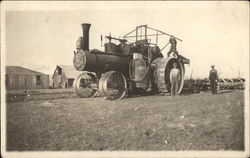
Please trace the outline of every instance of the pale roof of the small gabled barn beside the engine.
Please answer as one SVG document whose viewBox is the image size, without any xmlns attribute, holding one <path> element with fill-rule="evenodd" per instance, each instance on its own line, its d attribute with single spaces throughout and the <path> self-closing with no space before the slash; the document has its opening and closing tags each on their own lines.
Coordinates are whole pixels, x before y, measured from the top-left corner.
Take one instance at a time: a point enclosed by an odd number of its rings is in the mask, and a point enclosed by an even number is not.
<svg viewBox="0 0 250 158">
<path fill-rule="evenodd" d="M 73 65 L 57 65 L 56 69 L 58 67 L 60 67 L 64 71 L 67 78 L 76 78 L 78 75 L 82 73 L 82 71 L 77 71 Z M 54 74 L 52 78 L 54 77 Z"/>
</svg>

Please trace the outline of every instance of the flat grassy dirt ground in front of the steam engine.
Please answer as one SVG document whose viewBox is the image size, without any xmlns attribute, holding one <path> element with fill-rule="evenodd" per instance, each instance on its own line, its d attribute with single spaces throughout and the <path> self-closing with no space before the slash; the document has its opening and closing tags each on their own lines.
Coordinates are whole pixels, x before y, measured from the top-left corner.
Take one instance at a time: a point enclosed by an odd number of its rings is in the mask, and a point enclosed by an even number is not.
<svg viewBox="0 0 250 158">
<path fill-rule="evenodd" d="M 8 151 L 244 150 L 244 91 L 7 103 Z"/>
</svg>

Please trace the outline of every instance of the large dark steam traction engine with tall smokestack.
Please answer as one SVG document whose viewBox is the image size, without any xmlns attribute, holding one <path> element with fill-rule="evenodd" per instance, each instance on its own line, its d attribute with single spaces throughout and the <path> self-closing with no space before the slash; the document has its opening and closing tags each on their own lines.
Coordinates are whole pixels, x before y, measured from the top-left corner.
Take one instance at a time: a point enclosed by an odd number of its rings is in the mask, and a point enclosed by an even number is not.
<svg viewBox="0 0 250 158">
<path fill-rule="evenodd" d="M 181 92 L 184 84 L 184 64 L 188 64 L 189 60 L 181 55 L 163 58 L 157 46 L 158 36 L 171 35 L 141 25 L 123 38 L 105 36 L 108 39 L 104 44 L 105 51 L 89 50 L 90 26 L 82 24 L 83 36 L 77 40 L 77 50 L 74 51 L 74 67 L 78 71 L 83 71 L 74 81 L 78 96 L 89 98 L 100 92 L 107 99 L 114 100 L 123 98 L 126 93 L 149 90 L 153 93 L 168 92 L 169 75 L 174 62 L 181 72 L 178 93 Z M 156 34 L 148 35 L 148 30 L 153 30 Z M 132 36 L 132 33 L 136 35 Z M 156 44 L 150 43 L 150 36 L 156 37 Z M 129 43 L 128 39 L 131 38 L 134 41 Z M 114 41 L 119 44 L 113 43 Z"/>
</svg>

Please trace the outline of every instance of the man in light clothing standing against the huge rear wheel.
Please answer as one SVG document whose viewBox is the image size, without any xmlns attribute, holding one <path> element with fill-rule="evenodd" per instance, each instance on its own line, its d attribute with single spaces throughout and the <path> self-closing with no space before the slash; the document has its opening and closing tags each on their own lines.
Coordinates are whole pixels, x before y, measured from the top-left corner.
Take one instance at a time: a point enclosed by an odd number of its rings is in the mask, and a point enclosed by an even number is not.
<svg viewBox="0 0 250 158">
<path fill-rule="evenodd" d="M 170 83 L 171 83 L 171 96 L 178 95 L 180 79 L 180 70 L 177 68 L 177 64 L 173 64 L 173 69 L 170 71 Z"/>
</svg>

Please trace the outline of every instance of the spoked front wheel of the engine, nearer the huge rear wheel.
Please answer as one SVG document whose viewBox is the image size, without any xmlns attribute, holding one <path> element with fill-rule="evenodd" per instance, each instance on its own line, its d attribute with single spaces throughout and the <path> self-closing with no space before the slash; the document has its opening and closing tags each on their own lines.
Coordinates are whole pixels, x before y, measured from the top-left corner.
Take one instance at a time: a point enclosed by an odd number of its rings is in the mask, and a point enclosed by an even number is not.
<svg viewBox="0 0 250 158">
<path fill-rule="evenodd" d="M 122 99 L 127 91 L 126 78 L 120 72 L 109 71 L 101 77 L 99 91 L 106 99 Z"/>
</svg>

